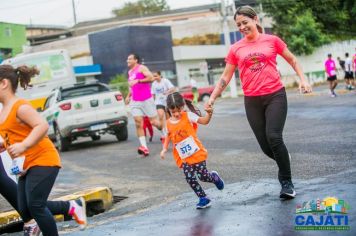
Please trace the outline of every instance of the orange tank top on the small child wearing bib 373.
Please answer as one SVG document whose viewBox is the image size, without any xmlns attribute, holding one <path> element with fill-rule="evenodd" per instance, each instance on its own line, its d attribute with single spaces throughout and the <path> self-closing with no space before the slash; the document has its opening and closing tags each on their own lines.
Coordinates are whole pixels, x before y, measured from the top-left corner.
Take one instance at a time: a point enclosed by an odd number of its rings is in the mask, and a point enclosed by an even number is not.
<svg viewBox="0 0 356 236">
<path fill-rule="evenodd" d="M 168 137 L 173 143 L 173 157 L 179 168 L 182 167 L 183 163 L 188 163 L 190 165 L 205 161 L 208 157 L 208 151 L 204 148 L 203 144 L 197 137 L 197 126 L 191 123 L 187 112 L 182 113 L 181 119 L 177 123 L 167 120 L 167 130 Z M 181 158 L 177 151 L 177 145 L 187 138 L 194 140 L 195 144 L 199 147 L 199 151 L 195 152 L 193 155 L 187 158 Z"/>
</svg>

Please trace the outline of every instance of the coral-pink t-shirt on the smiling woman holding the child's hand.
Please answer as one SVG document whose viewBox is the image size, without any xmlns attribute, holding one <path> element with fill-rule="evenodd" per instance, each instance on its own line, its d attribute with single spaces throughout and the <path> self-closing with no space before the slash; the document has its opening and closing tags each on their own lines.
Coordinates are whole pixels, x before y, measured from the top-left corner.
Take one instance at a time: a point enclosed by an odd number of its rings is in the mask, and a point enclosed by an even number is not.
<svg viewBox="0 0 356 236">
<path fill-rule="evenodd" d="M 280 38 L 269 34 L 260 34 L 253 42 L 243 38 L 231 46 L 225 61 L 239 69 L 245 96 L 271 94 L 283 88 L 276 58 L 285 48 Z"/>
</svg>

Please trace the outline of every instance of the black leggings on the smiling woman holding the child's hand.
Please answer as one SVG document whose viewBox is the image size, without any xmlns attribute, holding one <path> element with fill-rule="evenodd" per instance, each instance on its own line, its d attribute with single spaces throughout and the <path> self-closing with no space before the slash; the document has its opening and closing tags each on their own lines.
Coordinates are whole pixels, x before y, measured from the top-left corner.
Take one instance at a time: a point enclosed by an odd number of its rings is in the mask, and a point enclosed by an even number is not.
<svg viewBox="0 0 356 236">
<path fill-rule="evenodd" d="M 245 96 L 245 109 L 262 151 L 278 165 L 279 181 L 291 180 L 289 153 L 282 135 L 288 109 L 285 89 L 263 96 Z"/>
</svg>

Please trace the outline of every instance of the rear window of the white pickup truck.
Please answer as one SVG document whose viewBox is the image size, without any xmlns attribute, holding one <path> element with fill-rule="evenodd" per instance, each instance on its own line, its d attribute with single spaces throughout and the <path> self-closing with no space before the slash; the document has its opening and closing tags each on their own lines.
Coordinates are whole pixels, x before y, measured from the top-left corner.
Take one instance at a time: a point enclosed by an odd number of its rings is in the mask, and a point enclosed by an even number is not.
<svg viewBox="0 0 356 236">
<path fill-rule="evenodd" d="M 61 91 L 61 100 L 67 100 L 75 97 L 86 96 L 107 91 L 110 91 L 110 89 L 100 84 L 72 87 L 63 89 Z"/>
</svg>

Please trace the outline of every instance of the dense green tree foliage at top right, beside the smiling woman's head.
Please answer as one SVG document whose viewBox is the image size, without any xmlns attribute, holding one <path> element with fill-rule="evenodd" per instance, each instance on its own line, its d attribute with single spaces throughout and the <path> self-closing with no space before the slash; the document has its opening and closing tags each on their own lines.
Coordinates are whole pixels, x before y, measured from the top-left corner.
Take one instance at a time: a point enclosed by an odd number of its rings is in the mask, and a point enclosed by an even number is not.
<svg viewBox="0 0 356 236">
<path fill-rule="evenodd" d="M 331 40 L 356 36 L 354 0 L 259 0 L 274 20 L 273 32 L 294 53 L 311 54 Z"/>
</svg>

